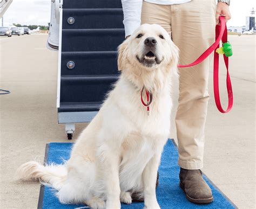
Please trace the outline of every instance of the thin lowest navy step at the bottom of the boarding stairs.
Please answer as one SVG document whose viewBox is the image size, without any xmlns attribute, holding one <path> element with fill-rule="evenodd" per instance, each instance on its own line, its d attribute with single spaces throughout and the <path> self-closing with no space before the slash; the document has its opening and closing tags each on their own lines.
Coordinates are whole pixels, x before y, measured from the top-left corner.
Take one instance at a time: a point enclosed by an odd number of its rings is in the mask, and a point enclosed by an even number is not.
<svg viewBox="0 0 256 209">
<path fill-rule="evenodd" d="M 61 102 L 58 112 L 91 112 L 98 111 L 102 102 Z"/>
</svg>

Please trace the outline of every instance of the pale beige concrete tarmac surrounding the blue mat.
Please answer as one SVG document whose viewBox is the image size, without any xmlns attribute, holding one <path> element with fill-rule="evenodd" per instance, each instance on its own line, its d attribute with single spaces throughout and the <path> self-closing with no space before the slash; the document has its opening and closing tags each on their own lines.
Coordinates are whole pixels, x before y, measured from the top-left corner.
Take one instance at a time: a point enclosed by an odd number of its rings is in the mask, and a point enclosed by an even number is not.
<svg viewBox="0 0 256 209">
<path fill-rule="evenodd" d="M 211 99 L 205 131 L 203 172 L 239 208 L 255 208 L 255 39 L 229 36 L 234 55 L 230 74 L 234 107 L 221 114 Z M 39 183 L 16 182 L 15 170 L 24 162 L 43 162 L 45 144 L 68 142 L 57 122 L 57 52 L 46 49 L 46 34 L 0 37 L 1 208 L 36 208 Z M 226 72 L 221 61 L 220 92 L 226 107 Z M 176 139 L 178 82 L 174 81 L 171 137 Z M 76 124 L 76 140 L 85 123 Z M 161 177 L 160 177 L 161 178 Z M 177 183 L 178 184 L 178 183 Z"/>
</svg>

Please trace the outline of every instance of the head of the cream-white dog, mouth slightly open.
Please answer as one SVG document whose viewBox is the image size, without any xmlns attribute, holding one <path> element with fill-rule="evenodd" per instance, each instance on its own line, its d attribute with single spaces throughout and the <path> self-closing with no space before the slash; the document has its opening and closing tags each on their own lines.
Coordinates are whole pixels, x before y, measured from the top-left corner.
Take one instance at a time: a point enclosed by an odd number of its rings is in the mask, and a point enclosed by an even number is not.
<svg viewBox="0 0 256 209">
<path fill-rule="evenodd" d="M 178 64 L 178 48 L 160 25 L 143 24 L 118 47 L 118 69 L 170 71 Z M 174 66 L 175 65 L 175 66 Z"/>
</svg>

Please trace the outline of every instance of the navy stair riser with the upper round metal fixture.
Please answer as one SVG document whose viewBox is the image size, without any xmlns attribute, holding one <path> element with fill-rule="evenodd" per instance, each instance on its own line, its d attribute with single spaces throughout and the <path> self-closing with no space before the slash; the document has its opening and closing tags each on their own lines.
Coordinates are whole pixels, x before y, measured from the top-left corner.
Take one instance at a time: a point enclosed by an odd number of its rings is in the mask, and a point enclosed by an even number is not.
<svg viewBox="0 0 256 209">
<path fill-rule="evenodd" d="M 75 22 L 68 23 L 73 17 Z M 122 9 L 63 9 L 63 29 L 122 29 Z"/>
</svg>

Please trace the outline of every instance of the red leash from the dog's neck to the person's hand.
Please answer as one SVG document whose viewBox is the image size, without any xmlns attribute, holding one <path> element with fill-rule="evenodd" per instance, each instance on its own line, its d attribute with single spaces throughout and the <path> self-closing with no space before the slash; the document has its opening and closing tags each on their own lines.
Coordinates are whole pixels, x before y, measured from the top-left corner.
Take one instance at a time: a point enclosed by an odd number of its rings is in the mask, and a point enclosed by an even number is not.
<svg viewBox="0 0 256 209">
<path fill-rule="evenodd" d="M 219 54 L 216 52 L 216 50 L 217 48 L 219 48 L 220 40 L 222 40 L 223 43 L 227 43 L 227 26 L 226 26 L 225 17 L 220 16 L 219 19 L 220 19 L 220 25 L 216 25 L 216 28 L 215 28 L 215 42 L 209 48 L 207 48 L 207 50 L 203 54 L 201 54 L 196 61 L 193 61 L 191 64 L 187 64 L 187 65 L 178 65 L 178 67 L 191 67 L 191 66 L 197 65 L 201 61 L 204 61 L 208 57 L 208 55 L 210 55 L 214 51 L 214 64 L 213 64 L 214 99 L 215 99 L 215 103 L 218 110 L 221 113 L 227 113 L 227 112 L 230 112 L 233 106 L 233 92 L 232 92 L 230 74 L 228 73 L 228 57 L 226 57 L 226 55 L 223 54 L 225 66 L 227 69 L 226 83 L 227 83 L 227 95 L 228 95 L 228 106 L 227 106 L 227 109 L 224 110 L 221 107 L 220 95 L 219 95 Z M 145 103 L 143 101 L 143 90 L 144 90 L 144 87 L 142 89 L 140 99 L 142 100 L 143 105 L 147 107 L 147 114 L 149 114 L 149 105 L 152 102 L 152 93 L 150 93 L 146 89 L 147 103 Z"/>
</svg>

